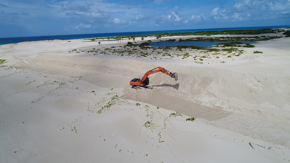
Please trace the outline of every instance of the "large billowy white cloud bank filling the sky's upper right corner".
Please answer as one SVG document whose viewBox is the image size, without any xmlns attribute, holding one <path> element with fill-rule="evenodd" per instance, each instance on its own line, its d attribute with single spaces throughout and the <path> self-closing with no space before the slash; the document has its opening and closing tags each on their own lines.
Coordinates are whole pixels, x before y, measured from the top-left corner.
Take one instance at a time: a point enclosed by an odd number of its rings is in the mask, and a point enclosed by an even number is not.
<svg viewBox="0 0 290 163">
<path fill-rule="evenodd" d="M 199 16 L 192 15 L 184 23 L 202 23 L 202 22 L 238 22 L 255 21 L 262 19 L 279 19 L 281 17 L 290 17 L 290 0 L 241 0 L 235 3 L 231 8 L 220 11 L 218 7 L 214 8 L 208 16 L 201 13 Z"/>
</svg>

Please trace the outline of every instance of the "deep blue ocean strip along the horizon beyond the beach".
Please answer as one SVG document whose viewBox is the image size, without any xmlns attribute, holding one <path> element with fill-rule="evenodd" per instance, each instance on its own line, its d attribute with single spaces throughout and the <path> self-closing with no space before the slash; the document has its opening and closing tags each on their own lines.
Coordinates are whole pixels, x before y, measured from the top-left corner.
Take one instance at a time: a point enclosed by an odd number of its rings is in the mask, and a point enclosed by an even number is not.
<svg viewBox="0 0 290 163">
<path fill-rule="evenodd" d="M 236 27 L 236 28 L 208 28 L 208 29 L 189 29 L 189 30 L 157 30 L 157 31 L 140 31 L 140 32 L 117 32 L 117 33 L 93 33 L 93 34 L 79 34 L 79 35 L 54 35 L 54 36 L 31 36 L 31 37 L 6 37 L 0 38 L 0 45 L 17 44 L 25 41 L 42 41 L 42 40 L 70 40 L 70 39 L 88 39 L 99 37 L 116 37 L 116 36 L 132 36 L 132 35 L 153 35 L 162 33 L 184 33 L 184 32 L 198 32 L 198 31 L 222 31 L 222 30 L 249 30 L 249 29 L 263 29 L 263 28 L 285 28 L 287 26 L 260 26 L 260 27 Z"/>
</svg>

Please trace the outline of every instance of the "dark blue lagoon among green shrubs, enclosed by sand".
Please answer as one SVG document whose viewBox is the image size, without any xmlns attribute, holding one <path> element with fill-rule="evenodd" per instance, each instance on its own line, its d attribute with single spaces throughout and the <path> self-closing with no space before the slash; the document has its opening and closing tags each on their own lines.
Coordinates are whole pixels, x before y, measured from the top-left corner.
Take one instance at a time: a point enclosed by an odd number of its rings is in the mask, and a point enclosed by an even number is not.
<svg viewBox="0 0 290 163">
<path fill-rule="evenodd" d="M 231 41 L 157 41 L 157 42 L 149 42 L 149 44 L 153 47 L 160 46 L 201 46 L 206 48 L 212 48 L 214 44 L 231 42 Z M 237 41 L 242 42 L 243 44 L 254 44 L 254 41 Z"/>
</svg>

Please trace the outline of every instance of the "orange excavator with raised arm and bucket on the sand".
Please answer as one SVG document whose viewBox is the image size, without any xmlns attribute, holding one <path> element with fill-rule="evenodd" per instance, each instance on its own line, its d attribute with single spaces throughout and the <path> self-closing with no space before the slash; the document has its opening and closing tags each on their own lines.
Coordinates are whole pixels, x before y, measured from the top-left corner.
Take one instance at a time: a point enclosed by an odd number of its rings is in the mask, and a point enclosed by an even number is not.
<svg viewBox="0 0 290 163">
<path fill-rule="evenodd" d="M 158 70 L 156 70 L 158 68 Z M 149 78 L 148 76 L 151 75 L 151 74 L 154 74 L 154 73 L 158 73 L 158 72 L 162 72 L 162 73 L 165 73 L 166 75 L 172 77 L 175 79 L 175 81 L 178 80 L 178 76 L 177 76 L 177 73 L 171 73 L 169 72 L 168 70 L 166 70 L 165 68 L 163 67 L 157 67 L 157 68 L 154 68 L 152 70 L 148 70 L 145 75 L 142 77 L 141 79 L 141 76 L 139 76 L 139 78 L 135 78 L 135 79 L 132 79 L 130 81 L 130 86 L 132 87 L 137 87 L 137 88 L 140 88 L 140 87 L 144 87 L 144 88 L 150 88 L 152 89 L 153 86 L 151 85 L 148 85 L 149 84 Z M 139 86 L 139 87 L 138 87 Z"/>
</svg>

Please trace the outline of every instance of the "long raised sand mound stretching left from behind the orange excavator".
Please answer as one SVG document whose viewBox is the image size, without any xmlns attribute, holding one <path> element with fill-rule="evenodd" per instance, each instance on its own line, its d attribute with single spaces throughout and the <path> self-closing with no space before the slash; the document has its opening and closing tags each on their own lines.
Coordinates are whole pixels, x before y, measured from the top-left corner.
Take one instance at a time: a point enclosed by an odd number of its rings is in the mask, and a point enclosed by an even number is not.
<svg viewBox="0 0 290 163">
<path fill-rule="evenodd" d="M 14 66 L 73 77 L 105 88 L 124 88 L 131 79 L 144 75 L 135 71 L 146 72 L 155 68 L 153 64 L 130 59 L 59 55 L 38 55 L 34 59 L 23 59 Z"/>
</svg>

